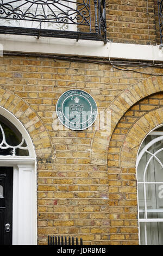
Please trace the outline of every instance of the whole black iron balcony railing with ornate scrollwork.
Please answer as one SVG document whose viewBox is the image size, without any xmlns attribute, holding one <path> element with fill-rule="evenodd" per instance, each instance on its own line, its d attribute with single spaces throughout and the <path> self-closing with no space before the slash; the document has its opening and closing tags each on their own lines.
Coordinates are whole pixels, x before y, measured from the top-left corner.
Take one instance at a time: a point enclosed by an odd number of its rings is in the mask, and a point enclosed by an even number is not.
<svg viewBox="0 0 163 256">
<path fill-rule="evenodd" d="M 105 0 L 0 0 L 0 33 L 106 43 Z"/>
</svg>

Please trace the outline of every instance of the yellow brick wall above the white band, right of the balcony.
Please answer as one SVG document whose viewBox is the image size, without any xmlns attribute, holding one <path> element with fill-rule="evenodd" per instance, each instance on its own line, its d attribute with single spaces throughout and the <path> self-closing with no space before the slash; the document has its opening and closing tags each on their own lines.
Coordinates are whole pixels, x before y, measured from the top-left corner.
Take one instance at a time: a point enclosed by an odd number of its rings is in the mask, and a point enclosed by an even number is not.
<svg viewBox="0 0 163 256">
<path fill-rule="evenodd" d="M 112 42 L 160 44 L 156 0 L 106 0 L 106 24 Z"/>
</svg>

